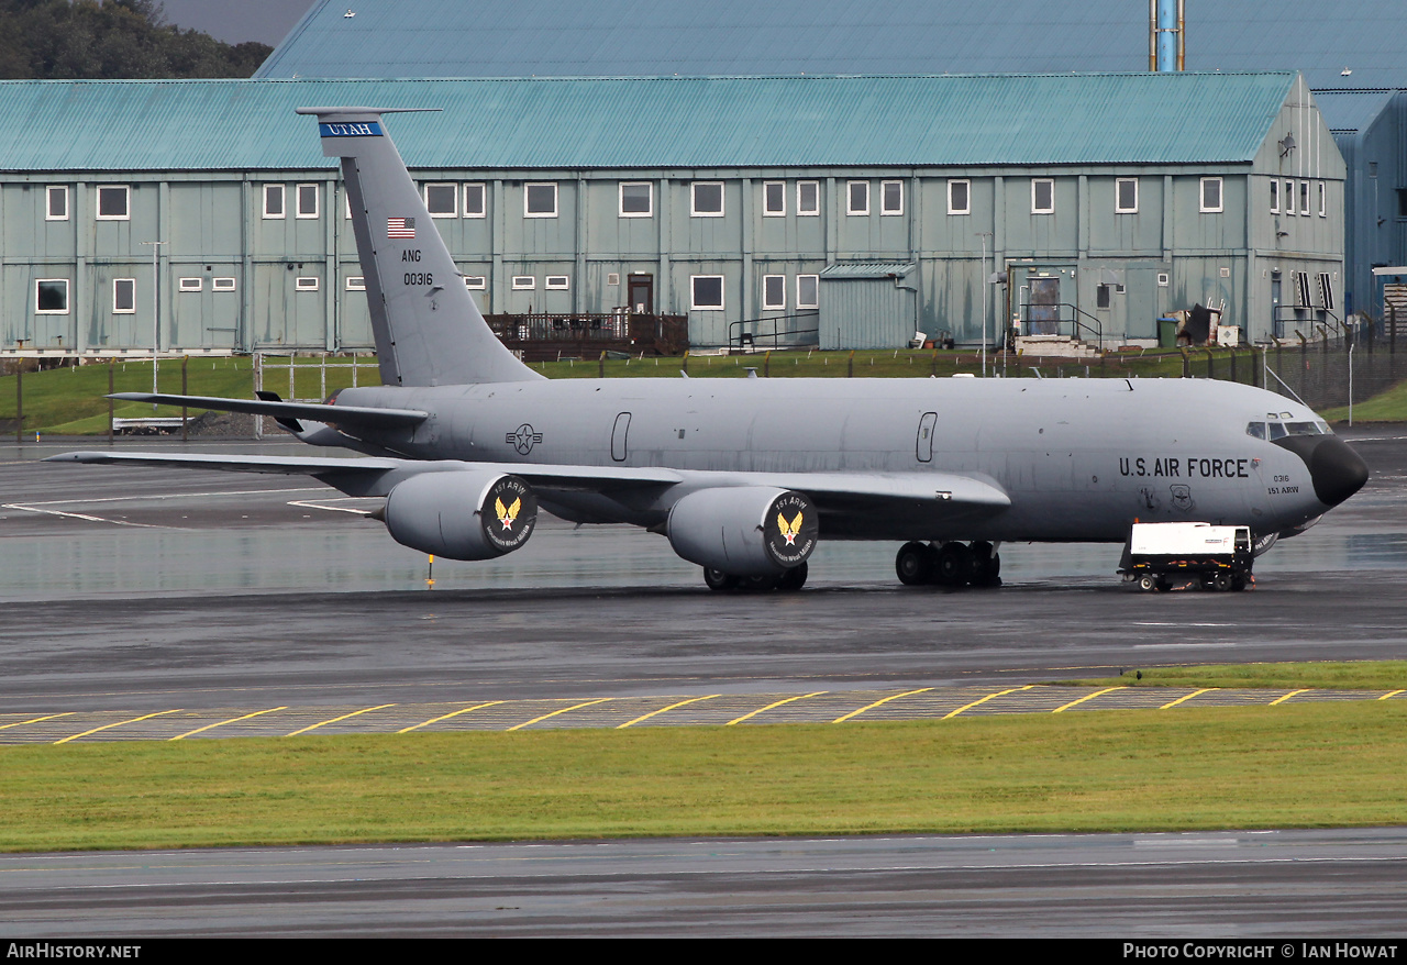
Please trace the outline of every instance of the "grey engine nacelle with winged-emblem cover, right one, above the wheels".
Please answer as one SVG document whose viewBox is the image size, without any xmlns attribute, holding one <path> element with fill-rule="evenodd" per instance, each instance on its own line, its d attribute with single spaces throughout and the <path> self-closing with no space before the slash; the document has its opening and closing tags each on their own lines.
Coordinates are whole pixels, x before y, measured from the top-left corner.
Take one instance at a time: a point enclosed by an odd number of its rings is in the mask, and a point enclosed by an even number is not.
<svg viewBox="0 0 1407 965">
<path fill-rule="evenodd" d="M 666 532 L 689 563 L 734 577 L 775 577 L 816 549 L 816 515 L 810 499 L 788 490 L 701 490 L 674 504 Z"/>
</svg>

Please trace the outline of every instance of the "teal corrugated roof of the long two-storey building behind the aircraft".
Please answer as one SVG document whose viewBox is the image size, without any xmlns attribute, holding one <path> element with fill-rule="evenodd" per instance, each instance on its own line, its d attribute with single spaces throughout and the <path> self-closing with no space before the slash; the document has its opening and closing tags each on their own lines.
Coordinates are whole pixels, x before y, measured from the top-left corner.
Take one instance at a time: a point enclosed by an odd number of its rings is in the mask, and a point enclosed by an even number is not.
<svg viewBox="0 0 1407 965">
<path fill-rule="evenodd" d="M 1237 163 L 1293 75 L 0 82 L 7 170 L 329 167 L 310 104 L 415 167 Z"/>
</svg>

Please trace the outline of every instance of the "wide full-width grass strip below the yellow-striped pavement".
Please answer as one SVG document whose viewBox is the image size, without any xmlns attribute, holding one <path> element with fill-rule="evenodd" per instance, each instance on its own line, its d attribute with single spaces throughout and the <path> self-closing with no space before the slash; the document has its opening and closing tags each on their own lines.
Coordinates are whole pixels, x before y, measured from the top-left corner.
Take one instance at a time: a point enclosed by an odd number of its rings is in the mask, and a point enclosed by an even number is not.
<svg viewBox="0 0 1407 965">
<path fill-rule="evenodd" d="M 0 748 L 0 848 L 1407 822 L 1407 701 Z"/>
</svg>

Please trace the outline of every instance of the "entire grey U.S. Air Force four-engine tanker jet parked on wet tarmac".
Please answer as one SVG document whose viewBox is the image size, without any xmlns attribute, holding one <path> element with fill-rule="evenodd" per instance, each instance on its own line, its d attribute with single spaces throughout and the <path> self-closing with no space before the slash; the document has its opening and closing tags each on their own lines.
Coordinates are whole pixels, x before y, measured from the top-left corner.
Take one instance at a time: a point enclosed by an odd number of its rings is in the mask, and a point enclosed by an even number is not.
<svg viewBox="0 0 1407 965">
<path fill-rule="evenodd" d="M 391 536 L 456 560 L 516 550 L 537 508 L 661 533 L 715 589 L 798 589 L 819 539 L 903 543 L 906 584 L 995 584 L 1003 540 L 1127 540 L 1134 520 L 1248 526 L 1259 547 L 1368 467 L 1314 412 L 1193 380 L 550 381 L 494 336 L 364 107 L 300 108 L 342 159 L 380 387 L 326 404 L 124 392 L 274 416 L 360 457 L 66 453 L 76 463 L 305 474 L 384 497 Z"/>
</svg>

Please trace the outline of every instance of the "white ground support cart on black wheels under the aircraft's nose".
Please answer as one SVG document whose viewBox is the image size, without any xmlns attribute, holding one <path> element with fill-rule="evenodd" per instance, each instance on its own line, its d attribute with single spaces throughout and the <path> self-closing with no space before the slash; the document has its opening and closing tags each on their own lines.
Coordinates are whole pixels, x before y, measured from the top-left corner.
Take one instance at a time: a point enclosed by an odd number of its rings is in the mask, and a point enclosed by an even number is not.
<svg viewBox="0 0 1407 965">
<path fill-rule="evenodd" d="M 1245 589 L 1254 561 L 1248 526 L 1134 523 L 1119 573 L 1141 589 L 1171 589 L 1197 577 L 1204 589 Z"/>
</svg>

